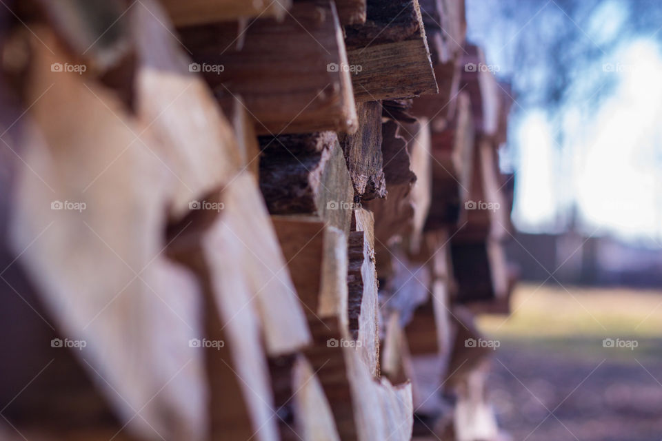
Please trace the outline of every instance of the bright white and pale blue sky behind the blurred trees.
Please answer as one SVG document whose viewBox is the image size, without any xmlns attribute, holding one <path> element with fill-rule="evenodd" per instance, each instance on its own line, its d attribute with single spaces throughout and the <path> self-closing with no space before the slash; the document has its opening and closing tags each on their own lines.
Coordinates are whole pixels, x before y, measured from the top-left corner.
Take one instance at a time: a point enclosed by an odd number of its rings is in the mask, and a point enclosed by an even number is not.
<svg viewBox="0 0 662 441">
<path fill-rule="evenodd" d="M 488 63 L 501 73 L 509 73 L 516 39 L 545 32 L 545 21 L 579 27 L 553 10 L 556 3 L 534 9 L 530 21 L 501 17 L 507 25 L 491 25 L 490 3 L 468 0 L 468 39 L 485 48 Z M 584 234 L 662 247 L 662 48 L 655 35 L 621 32 L 629 13 L 624 5 L 601 2 L 580 28 L 586 45 L 601 51 L 587 65 L 576 60 L 581 74 L 568 87 L 582 99 L 550 115 L 544 106 L 520 105 L 516 97 L 502 166 L 516 172 L 513 220 L 523 231 L 563 231 L 574 213 Z M 603 50 L 614 37 L 617 44 Z M 540 76 L 534 68 L 516 73 L 518 81 L 528 76 L 530 83 Z M 588 105 L 597 95 L 599 105 Z"/>
</svg>

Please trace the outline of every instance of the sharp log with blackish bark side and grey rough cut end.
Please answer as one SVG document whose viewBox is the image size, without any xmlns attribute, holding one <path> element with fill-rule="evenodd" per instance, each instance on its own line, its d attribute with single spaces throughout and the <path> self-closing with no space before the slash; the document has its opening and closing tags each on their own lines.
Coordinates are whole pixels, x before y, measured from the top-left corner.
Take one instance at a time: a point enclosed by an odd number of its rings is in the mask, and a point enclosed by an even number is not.
<svg viewBox="0 0 662 441">
<path fill-rule="evenodd" d="M 354 189 L 335 134 L 263 137 L 261 146 L 260 188 L 269 212 L 319 216 L 349 234 Z"/>
</svg>

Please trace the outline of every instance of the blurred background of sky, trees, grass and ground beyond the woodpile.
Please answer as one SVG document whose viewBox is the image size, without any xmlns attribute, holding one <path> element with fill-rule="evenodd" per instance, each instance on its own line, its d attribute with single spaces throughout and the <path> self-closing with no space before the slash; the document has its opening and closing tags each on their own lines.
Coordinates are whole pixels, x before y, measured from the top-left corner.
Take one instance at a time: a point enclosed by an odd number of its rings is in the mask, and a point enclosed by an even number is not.
<svg viewBox="0 0 662 441">
<path fill-rule="evenodd" d="M 468 0 L 512 81 L 522 283 L 490 398 L 515 440 L 662 437 L 662 1 Z"/>
</svg>

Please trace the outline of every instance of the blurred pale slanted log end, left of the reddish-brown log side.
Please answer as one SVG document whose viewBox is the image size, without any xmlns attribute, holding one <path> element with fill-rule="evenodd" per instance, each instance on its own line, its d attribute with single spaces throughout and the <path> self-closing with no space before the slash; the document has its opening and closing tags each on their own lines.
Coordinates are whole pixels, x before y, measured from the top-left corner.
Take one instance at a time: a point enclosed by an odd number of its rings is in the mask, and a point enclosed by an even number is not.
<svg viewBox="0 0 662 441">
<path fill-rule="evenodd" d="M 254 302 L 270 356 L 301 349 L 310 338 L 305 316 L 254 178 L 243 172 L 220 194 L 210 194 L 198 206 L 190 222 L 204 222 L 209 232 L 192 227 L 180 230 L 181 225 L 173 225 L 169 234 L 179 234 L 177 240 L 184 244 L 202 247 L 214 277 L 228 272 L 219 279 L 217 295 L 241 290 Z M 222 265 L 215 262 L 220 259 L 230 259 L 231 264 L 225 263 L 221 270 Z"/>
</svg>

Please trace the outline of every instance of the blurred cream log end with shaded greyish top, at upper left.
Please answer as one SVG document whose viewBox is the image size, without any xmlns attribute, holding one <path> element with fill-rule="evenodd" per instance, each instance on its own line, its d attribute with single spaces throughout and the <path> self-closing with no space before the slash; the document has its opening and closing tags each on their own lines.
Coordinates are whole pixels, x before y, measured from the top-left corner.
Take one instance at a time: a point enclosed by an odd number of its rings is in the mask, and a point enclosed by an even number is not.
<svg viewBox="0 0 662 441">
<path fill-rule="evenodd" d="M 130 18 L 137 48 L 137 114 L 161 141 L 162 149 L 153 154 L 176 178 L 172 212 L 179 220 L 192 201 L 228 183 L 243 158 L 208 86 L 190 72 L 190 59 L 166 28 L 168 18 L 159 4 L 145 0 L 130 10 Z"/>
</svg>

